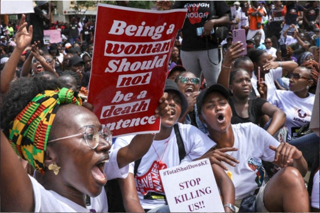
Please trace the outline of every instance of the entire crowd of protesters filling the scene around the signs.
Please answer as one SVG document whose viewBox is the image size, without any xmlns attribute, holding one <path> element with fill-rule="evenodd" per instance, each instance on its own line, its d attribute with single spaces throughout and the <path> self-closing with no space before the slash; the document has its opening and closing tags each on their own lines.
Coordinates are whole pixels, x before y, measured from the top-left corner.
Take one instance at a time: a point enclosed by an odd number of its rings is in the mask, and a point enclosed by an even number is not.
<svg viewBox="0 0 320 213">
<path fill-rule="evenodd" d="M 53 21 L 37 1 L 19 25 L 2 23 L 1 211 L 169 212 L 161 180 L 139 183 L 209 157 L 226 212 L 319 212 L 319 2 L 156 4 L 188 9 L 160 132 L 113 141 L 86 101 L 95 22 Z M 44 42 L 50 29 L 61 42 Z"/>
</svg>

